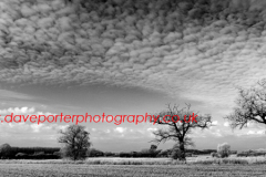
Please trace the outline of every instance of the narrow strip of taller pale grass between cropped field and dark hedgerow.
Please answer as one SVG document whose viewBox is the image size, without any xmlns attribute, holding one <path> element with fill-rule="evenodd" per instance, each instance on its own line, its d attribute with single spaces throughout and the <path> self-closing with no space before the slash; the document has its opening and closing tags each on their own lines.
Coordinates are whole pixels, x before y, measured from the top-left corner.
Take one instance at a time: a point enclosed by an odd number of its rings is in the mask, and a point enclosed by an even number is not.
<svg viewBox="0 0 266 177">
<path fill-rule="evenodd" d="M 200 155 L 187 157 L 187 164 L 266 164 L 266 157 L 236 157 L 231 155 L 228 158 L 213 158 L 209 155 Z M 222 163 L 218 163 L 222 162 Z M 239 163 L 235 163 L 239 162 Z M 85 160 L 68 159 L 9 159 L 0 160 L 0 164 L 88 164 L 88 165 L 182 165 L 184 162 L 173 160 L 171 158 L 121 158 L 121 157 L 90 157 Z"/>
</svg>

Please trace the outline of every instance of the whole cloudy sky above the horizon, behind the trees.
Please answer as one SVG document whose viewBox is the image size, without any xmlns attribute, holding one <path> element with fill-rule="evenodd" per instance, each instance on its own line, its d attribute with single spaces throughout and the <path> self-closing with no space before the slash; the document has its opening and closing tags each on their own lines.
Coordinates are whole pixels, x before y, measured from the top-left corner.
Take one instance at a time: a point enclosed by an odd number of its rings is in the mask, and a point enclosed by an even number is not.
<svg viewBox="0 0 266 177">
<path fill-rule="evenodd" d="M 266 74 L 264 0 L 1 0 L 0 114 L 130 115 L 165 104 L 212 114 L 196 147 L 266 148 L 265 126 L 232 131 L 236 87 Z M 59 146 L 69 124 L 1 123 L 0 144 Z M 151 124 L 86 123 L 93 147 L 149 148 Z M 173 143 L 160 145 L 170 148 Z"/>
</svg>

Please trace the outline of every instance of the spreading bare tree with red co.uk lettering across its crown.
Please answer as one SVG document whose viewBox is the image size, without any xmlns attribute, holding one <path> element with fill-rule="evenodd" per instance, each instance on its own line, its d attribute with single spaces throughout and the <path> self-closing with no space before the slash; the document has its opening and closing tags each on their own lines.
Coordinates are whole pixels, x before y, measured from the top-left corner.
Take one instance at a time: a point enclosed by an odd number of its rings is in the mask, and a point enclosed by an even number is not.
<svg viewBox="0 0 266 177">
<path fill-rule="evenodd" d="M 181 155 L 180 159 L 185 160 L 185 149 L 187 146 L 193 146 L 192 139 L 188 137 L 194 128 L 208 128 L 212 125 L 211 115 L 196 115 L 191 111 L 191 105 L 187 104 L 184 108 L 178 106 L 171 106 L 167 104 L 165 111 L 153 115 L 152 123 L 157 125 L 165 125 L 167 128 L 160 128 L 153 134 L 155 135 L 154 142 L 158 144 L 166 140 L 177 142 Z"/>
</svg>

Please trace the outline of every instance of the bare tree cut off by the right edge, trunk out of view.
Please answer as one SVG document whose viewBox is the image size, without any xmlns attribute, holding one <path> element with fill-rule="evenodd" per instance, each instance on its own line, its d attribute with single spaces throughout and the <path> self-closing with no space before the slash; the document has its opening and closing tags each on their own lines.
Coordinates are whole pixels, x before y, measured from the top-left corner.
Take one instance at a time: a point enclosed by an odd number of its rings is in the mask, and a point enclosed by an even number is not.
<svg viewBox="0 0 266 177">
<path fill-rule="evenodd" d="M 266 124 L 266 84 L 264 81 L 250 88 L 238 88 L 236 107 L 225 118 L 231 122 L 232 128 L 243 128 L 248 122 Z"/>
</svg>

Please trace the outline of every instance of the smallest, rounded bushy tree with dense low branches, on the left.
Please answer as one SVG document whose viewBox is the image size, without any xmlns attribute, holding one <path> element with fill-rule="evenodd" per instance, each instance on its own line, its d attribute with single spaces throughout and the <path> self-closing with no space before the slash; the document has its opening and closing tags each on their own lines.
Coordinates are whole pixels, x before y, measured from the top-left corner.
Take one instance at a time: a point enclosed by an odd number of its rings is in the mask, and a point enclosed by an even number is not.
<svg viewBox="0 0 266 177">
<path fill-rule="evenodd" d="M 74 160 L 82 159 L 86 156 L 91 143 L 89 134 L 84 126 L 70 125 L 66 131 L 60 131 L 62 136 L 59 137 L 59 143 L 64 144 L 61 153 L 64 157 L 70 157 Z"/>
</svg>

